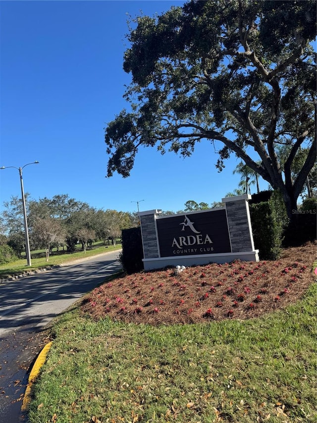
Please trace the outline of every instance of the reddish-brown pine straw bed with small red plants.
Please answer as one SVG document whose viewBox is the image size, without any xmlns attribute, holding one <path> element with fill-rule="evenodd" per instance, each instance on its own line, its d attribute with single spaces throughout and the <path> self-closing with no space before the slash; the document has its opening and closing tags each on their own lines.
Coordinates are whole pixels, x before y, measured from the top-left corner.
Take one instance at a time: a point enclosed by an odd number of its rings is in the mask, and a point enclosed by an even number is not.
<svg viewBox="0 0 317 423">
<path fill-rule="evenodd" d="M 250 319 L 300 300 L 317 280 L 316 243 L 287 248 L 276 261 L 208 264 L 140 272 L 95 288 L 81 304 L 98 320 L 152 325 Z"/>
</svg>

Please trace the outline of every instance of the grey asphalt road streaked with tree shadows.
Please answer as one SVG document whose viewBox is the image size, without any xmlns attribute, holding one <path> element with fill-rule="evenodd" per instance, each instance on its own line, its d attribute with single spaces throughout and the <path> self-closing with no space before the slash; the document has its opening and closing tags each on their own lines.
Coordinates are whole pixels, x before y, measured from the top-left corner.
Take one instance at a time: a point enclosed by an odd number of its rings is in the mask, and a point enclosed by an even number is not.
<svg viewBox="0 0 317 423">
<path fill-rule="evenodd" d="M 0 284 L 0 423 L 25 421 L 21 404 L 28 373 L 49 341 L 49 323 L 121 270 L 119 252 Z"/>
</svg>

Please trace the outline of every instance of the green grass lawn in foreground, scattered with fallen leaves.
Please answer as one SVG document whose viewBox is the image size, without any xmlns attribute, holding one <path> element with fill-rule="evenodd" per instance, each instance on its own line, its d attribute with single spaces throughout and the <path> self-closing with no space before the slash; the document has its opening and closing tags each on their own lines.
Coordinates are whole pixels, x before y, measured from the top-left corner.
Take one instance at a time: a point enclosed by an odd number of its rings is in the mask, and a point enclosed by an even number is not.
<svg viewBox="0 0 317 423">
<path fill-rule="evenodd" d="M 30 423 L 316 423 L 316 295 L 261 318 L 159 327 L 75 306 L 54 323 Z"/>
</svg>

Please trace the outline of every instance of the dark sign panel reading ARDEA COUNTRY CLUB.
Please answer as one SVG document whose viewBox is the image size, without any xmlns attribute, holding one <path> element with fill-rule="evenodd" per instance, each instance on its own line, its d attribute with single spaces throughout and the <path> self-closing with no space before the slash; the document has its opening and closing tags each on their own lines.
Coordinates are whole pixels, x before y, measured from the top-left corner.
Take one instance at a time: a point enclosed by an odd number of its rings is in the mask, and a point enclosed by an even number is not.
<svg viewBox="0 0 317 423">
<path fill-rule="evenodd" d="M 156 220 L 161 257 L 231 252 L 225 210 Z"/>
</svg>

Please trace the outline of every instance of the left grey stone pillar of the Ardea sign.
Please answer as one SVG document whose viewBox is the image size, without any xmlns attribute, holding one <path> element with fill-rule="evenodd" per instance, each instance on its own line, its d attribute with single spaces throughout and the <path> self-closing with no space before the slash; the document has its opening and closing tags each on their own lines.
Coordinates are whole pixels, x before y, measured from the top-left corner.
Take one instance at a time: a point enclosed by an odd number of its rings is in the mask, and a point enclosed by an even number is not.
<svg viewBox="0 0 317 423">
<path fill-rule="evenodd" d="M 159 257 L 159 246 L 155 225 L 155 215 L 158 213 L 158 210 L 152 210 L 147 213 L 151 214 L 142 215 L 142 212 L 139 214 L 142 230 L 144 258 L 155 258 Z"/>
</svg>

